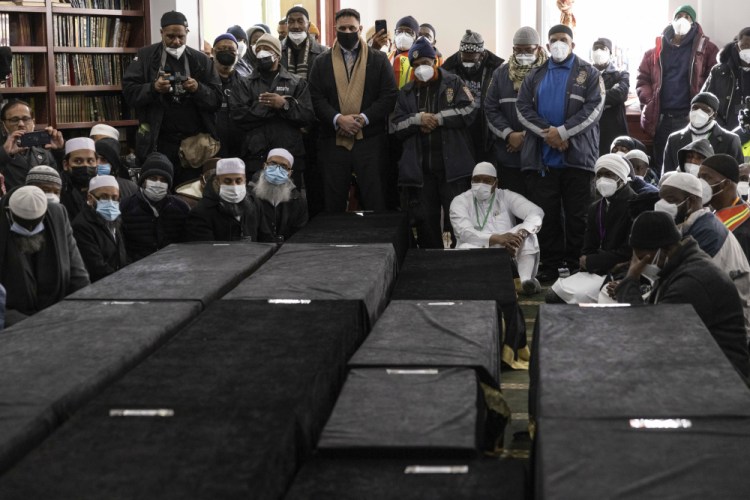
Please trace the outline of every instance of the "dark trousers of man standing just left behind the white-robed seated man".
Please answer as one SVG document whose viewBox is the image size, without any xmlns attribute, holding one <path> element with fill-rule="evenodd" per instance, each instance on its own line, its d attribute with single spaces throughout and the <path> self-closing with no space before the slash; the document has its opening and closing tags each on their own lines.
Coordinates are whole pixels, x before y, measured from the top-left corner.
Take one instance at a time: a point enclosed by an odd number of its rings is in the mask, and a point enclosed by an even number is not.
<svg viewBox="0 0 750 500">
<path fill-rule="evenodd" d="M 453 198 L 471 187 L 469 177 L 452 182 L 445 180 L 445 172 L 424 174 L 424 183 L 419 190 L 419 205 L 414 215 L 419 248 L 443 248 L 443 213 L 450 212 Z M 453 232 L 450 227 L 446 231 Z"/>
</svg>

